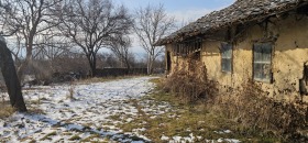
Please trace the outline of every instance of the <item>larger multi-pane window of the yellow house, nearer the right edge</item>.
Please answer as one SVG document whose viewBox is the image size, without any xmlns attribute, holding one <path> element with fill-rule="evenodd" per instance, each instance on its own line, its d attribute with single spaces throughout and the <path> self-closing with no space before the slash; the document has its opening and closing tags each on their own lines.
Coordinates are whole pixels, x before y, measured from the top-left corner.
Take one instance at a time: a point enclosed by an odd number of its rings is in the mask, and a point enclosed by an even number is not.
<svg viewBox="0 0 308 143">
<path fill-rule="evenodd" d="M 272 44 L 262 43 L 253 46 L 253 79 L 272 81 Z"/>
</svg>

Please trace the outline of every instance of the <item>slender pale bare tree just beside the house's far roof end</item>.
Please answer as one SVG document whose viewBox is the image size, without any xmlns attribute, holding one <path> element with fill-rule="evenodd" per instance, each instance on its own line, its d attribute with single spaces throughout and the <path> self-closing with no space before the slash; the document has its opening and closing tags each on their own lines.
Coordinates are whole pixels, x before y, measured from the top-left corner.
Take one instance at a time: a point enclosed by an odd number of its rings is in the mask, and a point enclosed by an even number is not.
<svg viewBox="0 0 308 143">
<path fill-rule="evenodd" d="M 167 16 L 162 4 L 158 7 L 148 4 L 146 8 L 140 8 L 135 11 L 134 31 L 141 46 L 147 53 L 147 74 L 152 74 L 153 63 L 164 50 L 154 46 L 154 43 L 169 34 L 173 28 L 175 28 L 175 19 Z"/>
</svg>

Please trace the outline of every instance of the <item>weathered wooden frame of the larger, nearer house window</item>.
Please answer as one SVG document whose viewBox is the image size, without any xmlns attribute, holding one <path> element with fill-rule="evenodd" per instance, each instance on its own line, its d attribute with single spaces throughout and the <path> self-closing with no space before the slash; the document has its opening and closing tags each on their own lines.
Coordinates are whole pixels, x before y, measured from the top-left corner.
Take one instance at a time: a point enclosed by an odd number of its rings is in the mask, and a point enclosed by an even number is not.
<svg viewBox="0 0 308 143">
<path fill-rule="evenodd" d="M 266 46 L 268 46 L 270 50 L 266 50 L 267 48 Z M 258 51 L 262 51 L 261 52 L 262 58 L 264 58 L 265 55 L 268 55 L 270 56 L 270 57 L 267 57 L 268 61 L 256 59 L 256 53 L 255 53 L 256 48 L 263 48 L 263 50 L 258 50 Z M 252 64 L 253 75 L 252 75 L 252 78 L 254 81 L 268 82 L 268 84 L 273 82 L 273 74 L 272 74 L 273 50 L 274 50 L 274 47 L 273 47 L 272 43 L 253 44 L 253 59 L 252 59 L 253 61 L 253 64 Z M 266 52 L 268 52 L 268 53 L 266 53 Z M 262 67 L 262 69 L 256 69 L 256 64 L 258 64 L 258 67 Z M 265 69 L 265 68 L 268 68 L 268 69 Z M 264 78 L 256 77 L 256 72 L 262 72 L 261 76 L 263 76 Z M 266 76 L 266 74 L 264 74 L 265 72 L 268 73 L 267 76 Z"/>
</svg>

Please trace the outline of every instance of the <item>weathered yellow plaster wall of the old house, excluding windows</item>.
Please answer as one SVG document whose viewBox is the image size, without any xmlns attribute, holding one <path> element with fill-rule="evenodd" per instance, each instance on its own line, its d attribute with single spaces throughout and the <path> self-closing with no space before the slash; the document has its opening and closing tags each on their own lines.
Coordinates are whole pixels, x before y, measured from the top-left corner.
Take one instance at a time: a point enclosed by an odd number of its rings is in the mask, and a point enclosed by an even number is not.
<svg viewBox="0 0 308 143">
<path fill-rule="evenodd" d="M 201 61 L 208 68 L 210 79 L 219 81 L 222 87 L 240 87 L 244 80 L 253 78 L 253 44 L 264 37 L 277 36 L 273 44 L 272 72 L 274 82 L 261 82 L 264 91 L 276 99 L 292 100 L 299 96 L 299 79 L 304 76 L 304 63 L 308 62 L 308 16 L 289 15 L 273 18 L 267 30 L 256 24 L 244 32 L 241 41 L 233 45 L 233 72 L 221 72 L 219 41 L 204 40 Z M 170 45 L 167 45 L 169 50 Z M 182 59 L 174 57 L 173 65 Z"/>
</svg>

